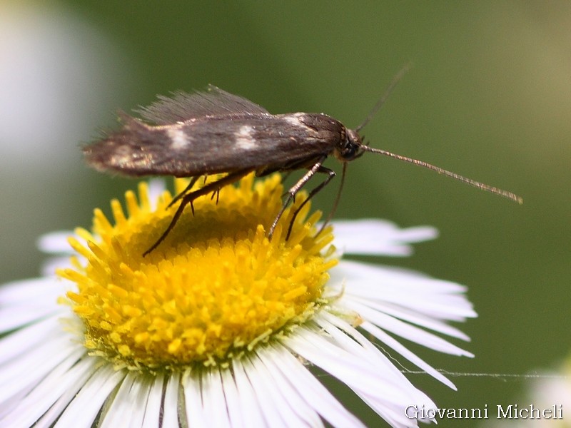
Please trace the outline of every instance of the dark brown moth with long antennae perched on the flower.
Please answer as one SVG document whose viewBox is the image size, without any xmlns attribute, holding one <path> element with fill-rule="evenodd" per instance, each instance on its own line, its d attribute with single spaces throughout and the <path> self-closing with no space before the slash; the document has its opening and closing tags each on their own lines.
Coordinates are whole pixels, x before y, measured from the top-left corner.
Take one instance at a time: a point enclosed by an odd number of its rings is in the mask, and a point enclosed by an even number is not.
<svg viewBox="0 0 571 428">
<path fill-rule="evenodd" d="M 188 187 L 171 201 L 171 205 L 178 201 L 180 204 L 168 228 L 143 255 L 151 253 L 161 244 L 187 205 L 191 205 L 194 213 L 193 200 L 196 198 L 209 193 L 214 195 L 224 186 L 251 172 L 261 177 L 276 171 L 305 170 L 303 176 L 285 194 L 287 196 L 283 206 L 268 231 L 268 237 L 271 238 L 285 209 L 314 175 L 321 174 L 324 178 L 310 190 L 308 197 L 293 214 L 294 219 L 303 205 L 335 177 L 333 170 L 323 166 L 329 156 L 334 156 L 343 164 L 340 188 L 343 186 L 347 163 L 370 152 L 435 170 L 521 203 L 521 198 L 511 192 L 465 178 L 430 163 L 371 148 L 363 143 L 359 131 L 383 105 L 405 71 L 406 68 L 403 68 L 395 76 L 365 121 L 354 129 L 346 128 L 343 123 L 324 113 L 274 115 L 246 98 L 216 86 L 208 86 L 206 91 L 176 92 L 171 97 L 158 96 L 158 101 L 138 111 L 141 119 L 120 112 L 122 128 L 108 132 L 101 141 L 85 146 L 84 155 L 89 165 L 105 172 L 191 178 Z M 225 175 L 198 190 L 191 190 L 198 178 L 211 174 Z M 339 195 L 340 190 L 338 198 Z M 292 225 L 293 220 L 286 239 Z"/>
</svg>

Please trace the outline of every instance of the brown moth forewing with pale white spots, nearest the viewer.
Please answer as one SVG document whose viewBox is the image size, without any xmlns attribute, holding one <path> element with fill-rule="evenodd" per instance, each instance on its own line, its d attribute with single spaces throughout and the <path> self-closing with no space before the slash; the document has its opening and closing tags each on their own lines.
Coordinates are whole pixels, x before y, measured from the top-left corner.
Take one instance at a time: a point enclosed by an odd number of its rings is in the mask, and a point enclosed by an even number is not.
<svg viewBox="0 0 571 428">
<path fill-rule="evenodd" d="M 331 136 L 293 127 L 278 116 L 202 119 L 178 127 L 148 126 L 131 116 L 123 128 L 84 147 L 97 170 L 125 175 L 194 175 L 284 170 L 331 151 Z"/>
</svg>

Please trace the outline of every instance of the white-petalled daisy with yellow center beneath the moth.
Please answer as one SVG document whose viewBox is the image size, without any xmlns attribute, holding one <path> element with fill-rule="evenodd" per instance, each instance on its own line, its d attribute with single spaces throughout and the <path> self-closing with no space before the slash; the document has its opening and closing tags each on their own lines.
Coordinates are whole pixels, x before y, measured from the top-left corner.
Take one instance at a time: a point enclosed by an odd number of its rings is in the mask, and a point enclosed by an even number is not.
<svg viewBox="0 0 571 428">
<path fill-rule="evenodd" d="M 175 209 L 153 193 L 140 183 L 126 210 L 113 200 L 113 221 L 95 210 L 58 277 L 0 287 L 1 426 L 362 427 L 310 367 L 393 427 L 416 426 L 408 409 L 436 406 L 387 353 L 454 388 L 398 339 L 470 356 L 442 337 L 468 340 L 448 324 L 475 317 L 465 288 L 339 260 L 406 255 L 433 228 L 345 222 L 334 239 L 306 204 L 286 240 L 298 198 L 268 240 L 281 178 L 248 176 L 197 199 L 143 257 Z M 60 250 L 61 235 L 41 246 Z"/>
</svg>

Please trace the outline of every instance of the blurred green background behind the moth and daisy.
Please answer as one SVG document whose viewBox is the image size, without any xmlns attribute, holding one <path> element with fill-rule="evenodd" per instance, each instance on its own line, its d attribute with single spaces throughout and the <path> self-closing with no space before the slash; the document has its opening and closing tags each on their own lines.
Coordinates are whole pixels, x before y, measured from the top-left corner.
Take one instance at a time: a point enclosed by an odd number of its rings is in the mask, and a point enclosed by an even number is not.
<svg viewBox="0 0 571 428">
<path fill-rule="evenodd" d="M 476 357 L 411 345 L 434 367 L 527 374 L 569 355 L 568 1 L 82 0 L 0 8 L 2 282 L 37 275 L 39 235 L 89 227 L 93 208 L 109 213 L 109 199 L 135 185 L 81 159 L 79 143 L 114 126 L 117 108 L 213 83 L 273 113 L 325 112 L 354 127 L 413 61 L 365 128 L 370 144 L 512 190 L 525 203 L 365 155 L 350 164 L 336 217 L 440 230 L 413 258 L 366 259 L 469 286 L 480 317 L 460 327 Z M 329 165 L 340 171 L 335 160 Z M 328 210 L 337 185 L 315 206 Z M 427 376 L 410 379 L 440 407 L 515 403 L 531 384 L 460 376 L 453 392 Z M 375 423 L 365 407 L 350 405 Z"/>
</svg>

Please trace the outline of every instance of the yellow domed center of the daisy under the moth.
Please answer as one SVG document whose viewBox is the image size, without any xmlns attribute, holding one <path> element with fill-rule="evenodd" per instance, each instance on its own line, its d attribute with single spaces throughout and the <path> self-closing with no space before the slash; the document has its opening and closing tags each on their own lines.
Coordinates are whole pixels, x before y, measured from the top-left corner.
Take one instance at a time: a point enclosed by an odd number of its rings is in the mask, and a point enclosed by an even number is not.
<svg viewBox="0 0 571 428">
<path fill-rule="evenodd" d="M 178 191 L 187 184 L 176 180 Z M 145 257 L 178 205 L 167 208 L 170 193 L 152 210 L 140 183 L 138 200 L 126 193 L 128 215 L 118 200 L 111 202 L 114 225 L 95 210 L 94 233 L 76 231 L 87 245 L 70 238 L 82 260 L 59 272 L 76 282 L 67 297 L 84 323 L 84 345 L 121 367 L 228 365 L 307 321 L 323 305 L 327 270 L 337 263 L 330 257 L 333 236 L 330 228 L 317 235 L 320 213 L 308 216 L 307 204 L 285 240 L 305 199 L 300 195 L 268 240 L 282 194 L 279 175 L 255 186 L 250 175 L 238 187 L 222 188 L 218 203 L 216 195 L 198 198 L 195 215 L 187 207 Z"/>
</svg>

